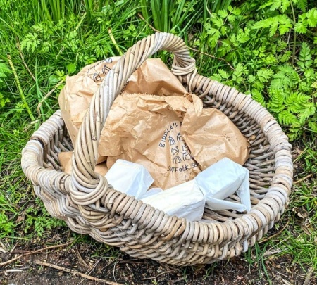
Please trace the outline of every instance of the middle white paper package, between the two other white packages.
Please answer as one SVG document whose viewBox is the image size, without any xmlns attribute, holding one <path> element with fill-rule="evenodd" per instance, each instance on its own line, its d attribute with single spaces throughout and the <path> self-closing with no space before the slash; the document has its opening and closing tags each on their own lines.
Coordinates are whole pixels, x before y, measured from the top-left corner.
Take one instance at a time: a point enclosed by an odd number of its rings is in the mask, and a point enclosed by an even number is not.
<svg viewBox="0 0 317 285">
<path fill-rule="evenodd" d="M 144 203 L 163 210 L 170 216 L 185 217 L 189 221 L 199 221 L 204 213 L 206 198 L 195 180 L 182 183 L 159 194 L 141 198 Z"/>
</svg>

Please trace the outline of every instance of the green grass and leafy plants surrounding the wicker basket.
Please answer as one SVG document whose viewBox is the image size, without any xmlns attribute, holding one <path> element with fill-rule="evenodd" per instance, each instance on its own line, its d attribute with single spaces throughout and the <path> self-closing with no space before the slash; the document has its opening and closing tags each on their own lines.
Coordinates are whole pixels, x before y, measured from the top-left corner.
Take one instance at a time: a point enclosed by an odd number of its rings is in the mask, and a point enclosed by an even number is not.
<svg viewBox="0 0 317 285">
<path fill-rule="evenodd" d="M 297 139 L 302 152 L 295 159 L 294 179 L 312 177 L 294 186 L 285 215 L 268 236 L 287 224 L 285 230 L 251 248 L 244 258 L 250 266 L 261 264 L 259 274 L 266 276 L 266 262 L 281 255 L 291 257 L 304 270 L 313 267 L 317 271 L 317 144 L 313 139 L 317 132 L 317 34 L 313 23 L 307 27 L 310 32 L 297 32 L 297 38 L 295 23 L 288 32 L 277 30 L 273 36 L 266 27 L 252 30 L 257 21 L 273 21 L 276 15 L 292 19 L 291 7 L 282 11 L 264 7 L 262 1 L 0 0 L 0 5 L 0 239 L 13 246 L 17 239 L 45 237 L 54 228 L 67 231 L 36 199 L 20 169 L 20 152 L 32 132 L 58 109 L 58 93 L 66 75 L 124 53 L 151 34 L 153 27 L 184 38 L 196 50 L 192 56 L 199 73 L 252 94 L 280 120 L 290 138 Z M 296 5 L 297 22 L 299 14 L 313 8 L 302 11 Z M 167 53 L 159 56 L 170 63 Z M 288 70 L 280 71 L 285 65 Z M 296 98 L 304 98 L 304 103 L 290 103 L 288 94 L 295 98 L 297 91 Z M 280 118 L 280 113 L 285 117 Z M 97 246 L 95 254 L 118 257 L 116 249 L 104 246 Z M 213 270 L 216 265 L 206 270 L 206 276 Z"/>
</svg>

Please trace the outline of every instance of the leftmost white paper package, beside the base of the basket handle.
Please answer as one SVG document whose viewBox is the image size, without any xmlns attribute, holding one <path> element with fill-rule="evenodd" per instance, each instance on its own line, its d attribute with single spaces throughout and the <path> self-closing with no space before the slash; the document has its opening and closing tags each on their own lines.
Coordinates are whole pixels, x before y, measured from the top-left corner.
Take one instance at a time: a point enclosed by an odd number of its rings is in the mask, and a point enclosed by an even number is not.
<svg viewBox="0 0 317 285">
<path fill-rule="evenodd" d="M 138 163 L 118 159 L 105 175 L 114 189 L 141 198 L 154 182 L 149 171 Z"/>
</svg>

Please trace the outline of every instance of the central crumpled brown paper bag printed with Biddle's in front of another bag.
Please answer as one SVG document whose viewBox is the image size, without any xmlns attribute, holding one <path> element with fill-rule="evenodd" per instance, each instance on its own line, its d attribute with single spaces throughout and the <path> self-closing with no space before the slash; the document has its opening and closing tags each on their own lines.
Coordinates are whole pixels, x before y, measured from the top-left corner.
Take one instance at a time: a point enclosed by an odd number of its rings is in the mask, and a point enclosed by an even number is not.
<svg viewBox="0 0 317 285">
<path fill-rule="evenodd" d="M 182 114 L 191 105 L 185 96 L 119 96 L 100 139 L 108 168 L 119 158 L 142 164 L 152 186 L 162 189 L 194 179 L 200 170 L 181 134 Z"/>
</svg>

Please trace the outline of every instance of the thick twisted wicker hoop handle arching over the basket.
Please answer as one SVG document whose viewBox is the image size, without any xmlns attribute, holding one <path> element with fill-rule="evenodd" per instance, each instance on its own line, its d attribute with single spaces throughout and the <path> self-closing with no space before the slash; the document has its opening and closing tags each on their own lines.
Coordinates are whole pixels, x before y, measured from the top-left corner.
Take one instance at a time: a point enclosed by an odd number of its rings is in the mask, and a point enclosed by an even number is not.
<svg viewBox="0 0 317 285">
<path fill-rule="evenodd" d="M 101 130 L 113 101 L 130 75 L 147 58 L 161 50 L 173 52 L 171 71 L 175 76 L 188 75 L 196 70 L 195 61 L 191 58 L 185 42 L 180 37 L 166 32 L 151 34 L 130 47 L 121 56 L 92 97 L 77 135 L 70 185 L 70 196 L 77 205 L 99 203 L 100 198 L 106 194 L 108 189 L 106 178 L 94 172 Z"/>
</svg>

